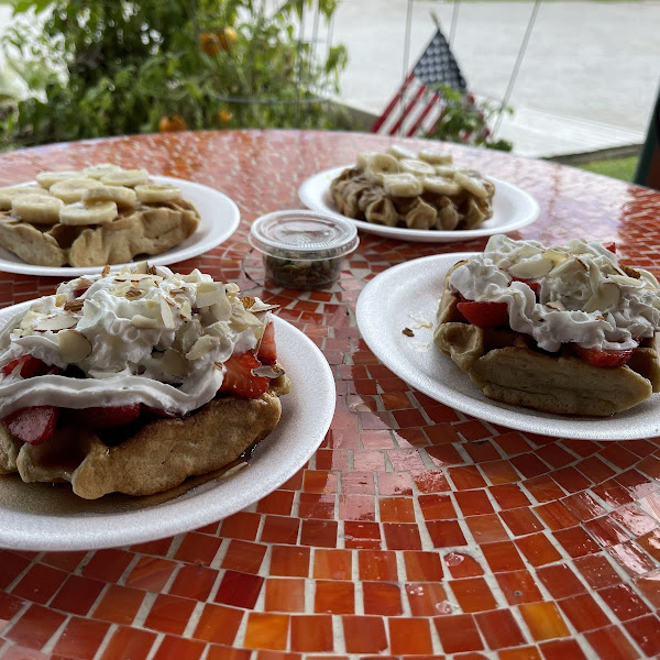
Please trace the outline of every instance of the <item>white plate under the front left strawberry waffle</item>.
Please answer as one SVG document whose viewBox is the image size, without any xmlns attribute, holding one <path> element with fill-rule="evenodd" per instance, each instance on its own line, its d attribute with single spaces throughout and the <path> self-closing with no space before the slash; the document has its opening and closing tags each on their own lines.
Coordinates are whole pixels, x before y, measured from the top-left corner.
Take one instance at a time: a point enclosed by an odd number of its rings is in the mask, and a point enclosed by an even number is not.
<svg viewBox="0 0 660 660">
<path fill-rule="evenodd" d="M 25 304 L 0 310 L 0 323 L 21 307 Z M 77 497 L 68 484 L 53 487 L 24 484 L 15 474 L 0 476 L 0 548 L 88 550 L 165 538 L 226 518 L 290 479 L 330 428 L 334 377 L 310 339 L 277 317 L 274 322 L 277 355 L 292 391 L 282 397 L 279 424 L 246 466 L 210 481 L 197 477 L 160 495 L 112 494 L 96 501 Z"/>
</svg>

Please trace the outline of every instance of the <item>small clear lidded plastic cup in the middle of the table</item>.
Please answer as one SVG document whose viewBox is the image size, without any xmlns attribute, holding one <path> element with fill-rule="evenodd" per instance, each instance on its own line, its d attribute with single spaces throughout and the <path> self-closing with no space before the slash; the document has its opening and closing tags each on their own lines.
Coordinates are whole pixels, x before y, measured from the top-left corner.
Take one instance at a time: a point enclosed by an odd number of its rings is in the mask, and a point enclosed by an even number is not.
<svg viewBox="0 0 660 660">
<path fill-rule="evenodd" d="M 249 240 L 263 254 L 267 279 L 301 290 L 336 282 L 344 257 L 360 243 L 351 221 L 307 210 L 257 218 Z"/>
</svg>

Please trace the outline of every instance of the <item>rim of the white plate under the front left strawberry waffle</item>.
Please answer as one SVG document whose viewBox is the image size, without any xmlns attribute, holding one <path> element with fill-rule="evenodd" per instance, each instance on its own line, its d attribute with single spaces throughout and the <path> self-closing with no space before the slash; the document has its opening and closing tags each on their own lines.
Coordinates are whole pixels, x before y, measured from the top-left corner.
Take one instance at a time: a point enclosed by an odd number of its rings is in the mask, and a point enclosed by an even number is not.
<svg viewBox="0 0 660 660">
<path fill-rule="evenodd" d="M 9 315 L 9 310 L 16 314 L 21 307 L 28 307 L 32 302 L 33 300 L 19 302 L 2 308 L 0 312 L 3 316 Z M 283 343 L 293 344 L 289 346 L 292 352 L 305 346 L 307 360 L 309 356 L 315 358 L 314 367 L 317 370 L 315 377 L 317 377 L 319 399 L 315 404 L 314 417 L 316 421 L 314 432 L 297 431 L 300 439 L 296 444 L 299 449 L 295 454 L 296 460 L 293 462 L 284 461 L 275 473 L 271 464 L 266 474 L 276 474 L 272 482 L 258 482 L 258 480 L 251 479 L 255 474 L 254 472 L 250 474 L 251 463 L 249 462 L 245 469 L 230 475 L 227 480 L 219 480 L 218 484 L 211 488 L 195 493 L 195 487 L 193 487 L 172 501 L 135 510 L 56 515 L 14 509 L 8 512 L 0 504 L 0 548 L 40 552 L 98 550 L 167 538 L 220 521 L 258 502 L 294 476 L 314 455 L 330 428 L 334 415 L 337 388 L 332 370 L 315 342 L 290 322 L 275 315 L 273 319 L 276 332 L 284 329 L 286 333 L 287 339 Z M 294 361 L 283 360 L 283 362 L 290 364 Z M 300 384 L 298 386 L 300 392 L 305 392 Z M 295 387 L 293 378 L 292 387 Z M 286 410 L 286 396 L 288 395 L 285 395 L 282 399 L 283 416 Z M 294 427 L 296 422 L 296 419 L 290 420 Z M 273 432 L 277 431 L 279 433 L 286 432 L 286 428 L 278 425 Z M 310 438 L 312 438 L 312 441 L 309 441 Z M 258 463 L 258 465 L 261 466 L 262 463 Z M 262 468 L 262 470 L 265 469 Z M 0 479 L 2 477 L 0 476 Z M 234 485 L 232 485 L 232 481 Z M 238 487 L 237 482 L 241 484 L 243 481 L 252 487 L 242 490 Z M 16 482 L 16 487 L 20 486 L 21 483 Z M 218 513 L 218 506 L 215 508 L 212 506 L 213 499 L 216 499 L 216 504 L 218 501 L 222 504 L 226 491 L 230 487 L 233 493 L 232 504 L 226 510 L 222 510 L 222 506 L 220 506 L 220 513 Z M 163 510 L 167 510 L 167 516 L 162 515 Z M 58 527 L 56 538 L 44 537 L 43 535 L 47 531 L 45 529 L 47 524 L 44 521 L 52 521 L 55 518 Z"/>
</svg>

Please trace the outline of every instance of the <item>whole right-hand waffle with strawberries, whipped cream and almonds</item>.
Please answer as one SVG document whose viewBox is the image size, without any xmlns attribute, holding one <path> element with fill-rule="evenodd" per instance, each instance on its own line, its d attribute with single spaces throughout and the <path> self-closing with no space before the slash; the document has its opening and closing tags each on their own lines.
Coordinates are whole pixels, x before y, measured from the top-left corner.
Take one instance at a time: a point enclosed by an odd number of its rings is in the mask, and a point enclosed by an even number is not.
<svg viewBox="0 0 660 660">
<path fill-rule="evenodd" d="M 660 287 L 598 242 L 492 237 L 447 274 L 435 342 L 490 398 L 606 417 L 660 391 Z"/>
</svg>

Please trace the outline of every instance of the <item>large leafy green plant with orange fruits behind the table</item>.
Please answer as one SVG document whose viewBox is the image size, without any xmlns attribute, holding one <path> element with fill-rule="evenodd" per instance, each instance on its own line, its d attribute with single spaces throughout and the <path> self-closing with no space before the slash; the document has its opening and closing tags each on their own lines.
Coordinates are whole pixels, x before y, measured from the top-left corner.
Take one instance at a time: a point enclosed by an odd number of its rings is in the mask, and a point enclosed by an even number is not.
<svg viewBox="0 0 660 660">
<path fill-rule="evenodd" d="M 330 128 L 343 46 L 296 34 L 337 0 L 18 0 L 4 36 L 30 90 L 4 106 L 0 134 L 22 145 L 161 130 Z M 47 11 L 46 11 L 47 10 Z M 43 31 L 26 23 L 43 18 Z M 26 16 L 28 21 L 21 20 Z"/>
</svg>

